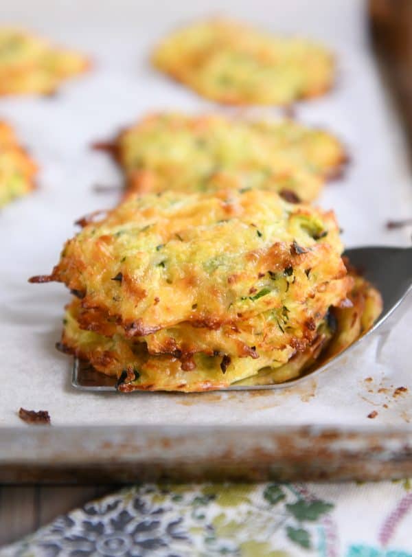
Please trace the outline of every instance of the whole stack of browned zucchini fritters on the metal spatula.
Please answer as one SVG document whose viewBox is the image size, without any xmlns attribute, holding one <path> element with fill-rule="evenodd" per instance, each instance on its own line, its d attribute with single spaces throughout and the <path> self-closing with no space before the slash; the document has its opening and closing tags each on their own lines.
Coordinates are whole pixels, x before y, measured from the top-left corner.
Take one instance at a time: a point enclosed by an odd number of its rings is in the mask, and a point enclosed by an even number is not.
<svg viewBox="0 0 412 557">
<path fill-rule="evenodd" d="M 268 190 L 130 195 L 80 221 L 52 275 L 76 296 L 61 347 L 119 389 L 287 380 L 380 312 L 332 212 Z"/>
</svg>

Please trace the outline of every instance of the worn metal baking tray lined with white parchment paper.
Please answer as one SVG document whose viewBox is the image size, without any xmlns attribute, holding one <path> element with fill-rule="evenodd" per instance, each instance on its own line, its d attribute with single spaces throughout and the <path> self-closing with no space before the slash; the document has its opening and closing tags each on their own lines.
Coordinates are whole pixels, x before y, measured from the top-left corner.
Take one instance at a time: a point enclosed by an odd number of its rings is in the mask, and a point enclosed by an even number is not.
<svg viewBox="0 0 412 557">
<path fill-rule="evenodd" d="M 23 0 L 3 3 L 0 19 L 89 52 L 94 71 L 54 98 L 0 98 L 0 117 L 16 126 L 42 169 L 38 191 L 0 214 L 0 480 L 411 475 L 410 310 L 327 373 L 282 391 L 93 394 L 73 389 L 71 362 L 54 349 L 67 292 L 26 282 L 52 269 L 78 216 L 117 201 L 115 192 L 93 188 L 121 183 L 113 163 L 89 149 L 95 139 L 150 110 L 216 109 L 159 76 L 148 53 L 176 23 L 222 11 L 334 49 L 334 91 L 296 111 L 300 120 L 333 130 L 352 155 L 346 177 L 328 186 L 319 203 L 336 209 L 348 246 L 409 245 L 411 228 L 385 229 L 387 220 L 411 216 L 412 184 L 400 122 L 367 41 L 363 3 L 291 0 L 274 8 L 265 0 L 230 0 L 223 10 L 217 0 L 161 9 L 85 0 L 73 10 L 38 0 L 35 18 L 32 10 Z M 52 426 L 27 427 L 19 407 L 48 410 Z"/>
</svg>

